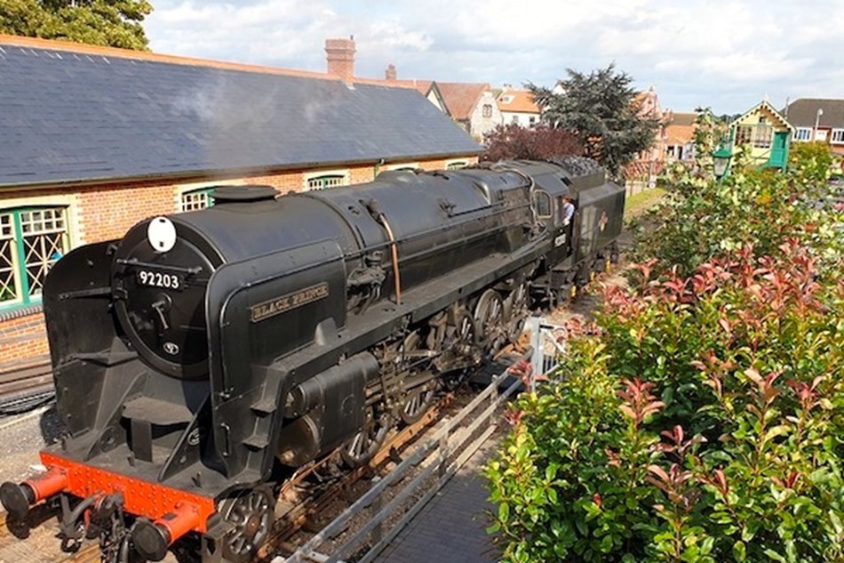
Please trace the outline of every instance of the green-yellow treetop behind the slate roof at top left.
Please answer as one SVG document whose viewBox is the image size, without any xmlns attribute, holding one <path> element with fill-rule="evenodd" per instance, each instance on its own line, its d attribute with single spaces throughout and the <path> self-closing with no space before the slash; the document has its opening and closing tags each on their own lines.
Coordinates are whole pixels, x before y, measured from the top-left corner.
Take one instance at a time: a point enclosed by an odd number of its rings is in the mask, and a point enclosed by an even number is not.
<svg viewBox="0 0 844 563">
<path fill-rule="evenodd" d="M 146 51 L 147 0 L 0 0 L 0 33 Z"/>
</svg>

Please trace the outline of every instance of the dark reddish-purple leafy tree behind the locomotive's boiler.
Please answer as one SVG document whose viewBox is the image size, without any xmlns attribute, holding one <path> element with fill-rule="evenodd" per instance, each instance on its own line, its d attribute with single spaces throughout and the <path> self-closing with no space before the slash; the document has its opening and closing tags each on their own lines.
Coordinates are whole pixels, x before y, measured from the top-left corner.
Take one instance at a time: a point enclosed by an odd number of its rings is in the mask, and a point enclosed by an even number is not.
<svg viewBox="0 0 844 563">
<path fill-rule="evenodd" d="M 482 160 L 546 160 L 566 155 L 582 155 L 583 145 L 574 134 L 548 125 L 526 129 L 521 125 L 498 125 L 484 136 L 487 147 Z"/>
</svg>

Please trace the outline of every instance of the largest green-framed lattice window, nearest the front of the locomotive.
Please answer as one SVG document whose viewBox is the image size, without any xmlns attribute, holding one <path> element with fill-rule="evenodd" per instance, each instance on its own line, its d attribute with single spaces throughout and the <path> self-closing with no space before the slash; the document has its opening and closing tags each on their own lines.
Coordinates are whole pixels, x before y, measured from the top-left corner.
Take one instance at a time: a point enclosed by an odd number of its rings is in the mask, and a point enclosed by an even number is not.
<svg viewBox="0 0 844 563">
<path fill-rule="evenodd" d="M 0 209 L 0 308 L 40 302 L 68 246 L 65 207 Z"/>
</svg>

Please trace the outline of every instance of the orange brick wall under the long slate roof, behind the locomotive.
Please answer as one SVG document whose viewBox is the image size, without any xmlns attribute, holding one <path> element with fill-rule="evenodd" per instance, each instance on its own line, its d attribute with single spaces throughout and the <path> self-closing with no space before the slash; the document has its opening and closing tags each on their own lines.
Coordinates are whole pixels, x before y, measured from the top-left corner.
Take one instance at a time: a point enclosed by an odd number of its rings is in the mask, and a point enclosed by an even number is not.
<svg viewBox="0 0 844 563">
<path fill-rule="evenodd" d="M 470 163 L 477 158 L 465 159 Z M 415 161 L 425 170 L 445 168 L 443 159 Z M 393 163 L 391 163 L 393 164 Z M 332 170 L 336 170 L 332 167 Z M 372 181 L 374 165 L 358 165 L 346 168 L 352 184 Z M 318 170 L 308 170 L 308 173 Z M 218 180 L 219 183 L 255 183 L 275 187 L 281 193 L 301 191 L 304 187 L 304 171 L 275 174 L 256 174 L 238 178 Z M 213 181 L 206 179 L 206 181 Z M 217 181 L 213 181 L 217 182 Z M 146 217 L 175 212 L 175 201 L 179 183 L 122 182 L 103 186 L 76 189 L 10 190 L 0 192 L 0 209 L 20 206 L 23 202 L 58 198 L 69 205 L 71 245 L 90 244 L 123 237 L 136 222 Z M 46 198 L 46 199 L 45 199 Z M 32 310 L 33 308 L 28 308 Z M 37 308 L 35 308 L 37 309 Z M 11 314 L 10 314 L 11 313 Z M 12 317 L 12 318 L 9 318 Z M 6 318 L 6 320 L 2 320 Z M 14 317 L 14 311 L 0 312 L 0 371 L 14 366 L 26 365 L 48 353 L 44 316 L 40 312 Z"/>
</svg>

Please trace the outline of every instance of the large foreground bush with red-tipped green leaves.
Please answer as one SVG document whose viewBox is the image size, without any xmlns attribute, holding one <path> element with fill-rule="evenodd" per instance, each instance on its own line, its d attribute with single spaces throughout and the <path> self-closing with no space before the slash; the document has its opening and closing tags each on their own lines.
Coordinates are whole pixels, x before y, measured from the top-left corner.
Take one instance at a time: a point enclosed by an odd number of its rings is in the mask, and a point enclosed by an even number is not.
<svg viewBox="0 0 844 563">
<path fill-rule="evenodd" d="M 781 246 L 607 290 L 487 467 L 505 561 L 844 560 L 844 284 Z"/>
</svg>

